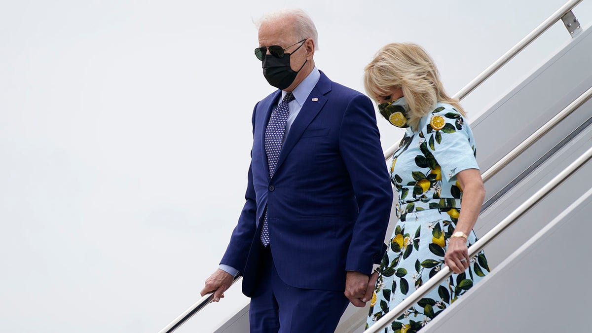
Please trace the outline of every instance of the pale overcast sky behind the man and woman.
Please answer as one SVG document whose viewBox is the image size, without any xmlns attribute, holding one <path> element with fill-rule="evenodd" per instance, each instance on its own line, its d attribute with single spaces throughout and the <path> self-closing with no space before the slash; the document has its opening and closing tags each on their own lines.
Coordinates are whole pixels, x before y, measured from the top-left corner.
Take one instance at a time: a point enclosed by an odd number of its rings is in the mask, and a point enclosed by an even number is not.
<svg viewBox="0 0 592 333">
<path fill-rule="evenodd" d="M 274 91 L 253 55 L 263 13 L 305 9 L 334 81 L 362 91 L 379 47 L 413 41 L 454 94 L 564 2 L 2 1 L 1 330 L 157 332 L 200 298 L 244 203 L 253 106 Z M 464 101 L 469 120 L 569 40 L 552 27 Z M 383 148 L 400 139 L 378 124 Z M 246 302 L 235 287 L 178 332 Z"/>
</svg>

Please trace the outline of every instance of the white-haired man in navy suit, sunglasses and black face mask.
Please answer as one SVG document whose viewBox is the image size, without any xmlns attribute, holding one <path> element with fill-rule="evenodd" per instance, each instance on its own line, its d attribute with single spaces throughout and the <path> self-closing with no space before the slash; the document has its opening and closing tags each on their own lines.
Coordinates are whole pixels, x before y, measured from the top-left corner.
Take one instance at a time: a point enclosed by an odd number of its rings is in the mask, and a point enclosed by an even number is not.
<svg viewBox="0 0 592 333">
<path fill-rule="evenodd" d="M 384 252 L 392 189 L 374 107 L 317 70 L 316 45 L 303 11 L 259 25 L 255 55 L 279 90 L 253 110 L 246 203 L 201 292 L 217 302 L 241 273 L 251 332 L 333 332 L 348 300 L 371 298 Z"/>
</svg>

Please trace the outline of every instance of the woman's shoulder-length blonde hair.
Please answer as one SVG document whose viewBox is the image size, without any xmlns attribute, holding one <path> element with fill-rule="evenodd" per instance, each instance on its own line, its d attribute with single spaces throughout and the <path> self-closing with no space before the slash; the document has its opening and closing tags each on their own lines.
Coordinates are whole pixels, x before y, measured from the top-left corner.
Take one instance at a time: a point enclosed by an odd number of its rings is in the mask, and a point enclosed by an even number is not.
<svg viewBox="0 0 592 333">
<path fill-rule="evenodd" d="M 419 45 L 391 43 L 383 46 L 364 68 L 364 88 L 376 99 L 391 88 L 403 89 L 409 106 L 409 124 L 414 130 L 419 120 L 430 113 L 436 103 L 451 104 L 465 116 L 456 98 L 449 97 L 442 87 L 440 75 L 432 58 Z"/>
</svg>

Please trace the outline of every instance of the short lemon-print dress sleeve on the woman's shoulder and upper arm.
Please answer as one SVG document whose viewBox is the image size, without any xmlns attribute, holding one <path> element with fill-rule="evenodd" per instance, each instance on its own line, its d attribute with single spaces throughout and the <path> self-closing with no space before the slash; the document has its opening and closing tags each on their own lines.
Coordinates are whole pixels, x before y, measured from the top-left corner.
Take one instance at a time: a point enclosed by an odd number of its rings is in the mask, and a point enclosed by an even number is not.
<svg viewBox="0 0 592 333">
<path fill-rule="evenodd" d="M 427 116 L 422 133 L 427 148 L 440 165 L 442 177 L 454 181 L 465 169 L 479 169 L 475 142 L 464 117 L 452 107 L 437 107 Z"/>
</svg>

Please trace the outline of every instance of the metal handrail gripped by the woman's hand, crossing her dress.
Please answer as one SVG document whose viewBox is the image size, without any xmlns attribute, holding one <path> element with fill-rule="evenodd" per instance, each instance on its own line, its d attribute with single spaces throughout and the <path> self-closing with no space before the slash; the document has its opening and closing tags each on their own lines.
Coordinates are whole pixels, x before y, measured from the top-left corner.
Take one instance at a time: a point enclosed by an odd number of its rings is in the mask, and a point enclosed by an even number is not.
<svg viewBox="0 0 592 333">
<path fill-rule="evenodd" d="M 554 190 L 562 181 L 566 178 L 570 177 L 577 171 L 582 165 L 584 165 L 590 158 L 592 158 L 592 148 L 588 149 L 580 158 L 576 159 L 569 167 L 565 168 L 564 171 L 559 173 L 555 178 L 549 181 L 545 186 L 540 188 L 532 197 L 526 200 L 523 204 L 521 204 L 516 210 L 514 210 L 509 216 L 507 216 L 504 220 L 502 220 L 497 226 L 491 229 L 488 233 L 485 234 L 481 239 L 479 239 L 475 244 L 469 247 L 469 258 L 475 257 L 486 245 L 488 245 L 493 239 L 495 239 L 501 232 L 506 230 L 509 226 L 512 225 L 517 219 L 519 219 L 523 214 L 525 214 L 530 208 L 535 206 L 542 198 L 544 198 L 549 192 Z M 381 331 L 381 329 L 386 328 L 391 322 L 398 318 L 399 316 L 403 315 L 403 313 L 413 306 L 417 301 L 422 299 L 427 293 L 430 292 L 434 287 L 438 286 L 442 281 L 446 280 L 449 276 L 452 275 L 452 271 L 448 266 L 445 266 L 436 273 L 435 276 L 427 280 L 423 286 L 419 287 L 415 292 L 413 292 L 410 296 L 406 297 L 403 302 L 399 303 L 395 308 L 389 310 L 384 316 L 378 319 L 374 325 L 370 326 L 370 328 L 366 329 L 364 333 L 375 333 Z"/>
</svg>

